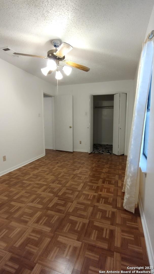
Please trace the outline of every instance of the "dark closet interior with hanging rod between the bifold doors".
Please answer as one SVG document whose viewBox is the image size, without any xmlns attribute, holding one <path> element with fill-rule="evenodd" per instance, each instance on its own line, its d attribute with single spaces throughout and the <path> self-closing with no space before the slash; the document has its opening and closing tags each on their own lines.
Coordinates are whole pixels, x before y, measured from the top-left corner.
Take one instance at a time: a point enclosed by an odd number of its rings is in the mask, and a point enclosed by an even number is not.
<svg viewBox="0 0 154 274">
<path fill-rule="evenodd" d="M 114 95 L 94 95 L 93 153 L 113 152 Z"/>
</svg>

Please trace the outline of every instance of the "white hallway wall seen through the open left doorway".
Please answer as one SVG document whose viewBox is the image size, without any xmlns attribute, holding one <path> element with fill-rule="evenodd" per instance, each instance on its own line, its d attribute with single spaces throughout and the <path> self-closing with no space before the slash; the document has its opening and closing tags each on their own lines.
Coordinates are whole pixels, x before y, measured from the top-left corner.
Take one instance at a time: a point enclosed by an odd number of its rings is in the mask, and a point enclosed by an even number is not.
<svg viewBox="0 0 154 274">
<path fill-rule="evenodd" d="M 44 97 L 45 148 L 53 149 L 53 108 L 52 97 Z"/>
</svg>

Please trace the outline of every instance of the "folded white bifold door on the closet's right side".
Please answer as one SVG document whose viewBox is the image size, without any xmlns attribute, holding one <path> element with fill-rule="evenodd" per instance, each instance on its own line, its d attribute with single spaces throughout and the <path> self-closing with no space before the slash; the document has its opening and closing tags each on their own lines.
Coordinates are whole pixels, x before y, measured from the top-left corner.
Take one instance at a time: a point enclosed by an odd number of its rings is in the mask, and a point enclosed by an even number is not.
<svg viewBox="0 0 154 274">
<path fill-rule="evenodd" d="M 114 117 L 113 117 L 113 153 L 124 154 L 126 125 L 126 94 L 114 95 Z"/>
</svg>

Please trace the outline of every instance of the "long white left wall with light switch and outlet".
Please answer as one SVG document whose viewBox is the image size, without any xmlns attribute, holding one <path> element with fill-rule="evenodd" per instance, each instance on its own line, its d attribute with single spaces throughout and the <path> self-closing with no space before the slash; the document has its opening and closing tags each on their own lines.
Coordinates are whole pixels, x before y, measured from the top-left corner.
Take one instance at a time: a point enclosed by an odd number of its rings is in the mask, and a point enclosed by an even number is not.
<svg viewBox="0 0 154 274">
<path fill-rule="evenodd" d="M 0 76 L 2 175 L 44 155 L 43 92 L 54 95 L 55 87 L 1 59 Z"/>
</svg>

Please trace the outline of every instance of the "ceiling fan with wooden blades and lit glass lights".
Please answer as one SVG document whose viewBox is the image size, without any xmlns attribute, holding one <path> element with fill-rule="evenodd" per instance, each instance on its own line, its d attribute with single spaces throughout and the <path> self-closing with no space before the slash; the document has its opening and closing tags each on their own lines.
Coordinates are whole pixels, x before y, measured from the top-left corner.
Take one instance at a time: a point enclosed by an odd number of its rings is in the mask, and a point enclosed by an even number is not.
<svg viewBox="0 0 154 274">
<path fill-rule="evenodd" d="M 48 74 L 51 74 L 54 70 L 56 70 L 56 79 L 62 79 L 62 73 L 60 72 L 60 67 L 62 67 L 62 70 L 66 75 L 69 75 L 71 73 L 72 68 L 75 67 L 80 70 L 83 70 L 85 72 L 88 72 L 90 70 L 89 67 L 64 60 L 65 55 L 72 50 L 72 46 L 62 42 L 60 45 L 60 41 L 58 40 L 53 40 L 52 41 L 53 46 L 55 49 L 49 50 L 47 52 L 47 57 L 45 56 L 39 56 L 39 55 L 31 55 L 31 54 L 24 54 L 24 53 L 17 53 L 14 52 L 15 55 L 22 55 L 22 56 L 30 56 L 30 57 L 38 57 L 38 58 L 43 58 L 43 59 L 48 59 L 47 67 L 42 68 L 41 71 L 42 73 L 47 76 Z M 59 64 L 59 62 L 63 62 L 63 65 Z"/>
</svg>

